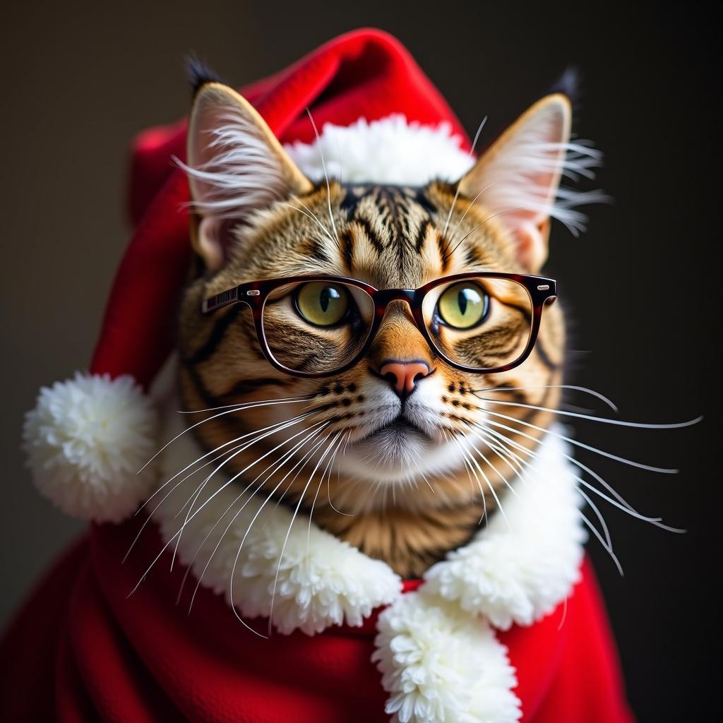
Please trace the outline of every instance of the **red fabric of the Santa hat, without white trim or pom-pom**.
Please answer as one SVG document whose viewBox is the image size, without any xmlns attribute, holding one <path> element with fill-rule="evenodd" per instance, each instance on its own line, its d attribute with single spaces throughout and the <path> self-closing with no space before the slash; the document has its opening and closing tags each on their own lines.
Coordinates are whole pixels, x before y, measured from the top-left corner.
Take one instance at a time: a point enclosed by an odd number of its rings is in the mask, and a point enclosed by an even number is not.
<svg viewBox="0 0 723 723">
<path fill-rule="evenodd" d="M 318 48 L 290 68 L 242 88 L 282 142 L 309 142 L 331 122 L 393 113 L 409 120 L 463 128 L 406 49 L 380 30 L 355 30 Z M 187 180 L 172 156 L 185 158 L 186 124 L 138 137 L 131 174 L 130 213 L 137 223 L 121 262 L 90 371 L 130 374 L 147 386 L 173 345 L 181 288 L 190 260 Z"/>
</svg>

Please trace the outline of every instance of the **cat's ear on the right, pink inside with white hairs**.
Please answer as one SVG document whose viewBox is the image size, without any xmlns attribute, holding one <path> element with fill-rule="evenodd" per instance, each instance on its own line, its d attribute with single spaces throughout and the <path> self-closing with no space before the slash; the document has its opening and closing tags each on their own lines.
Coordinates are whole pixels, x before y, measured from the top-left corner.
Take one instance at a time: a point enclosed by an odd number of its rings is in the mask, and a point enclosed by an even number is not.
<svg viewBox="0 0 723 723">
<path fill-rule="evenodd" d="M 570 102 L 547 95 L 529 108 L 459 182 L 459 191 L 498 215 L 518 259 L 538 271 L 547 258 L 549 218 L 570 139 Z"/>
</svg>

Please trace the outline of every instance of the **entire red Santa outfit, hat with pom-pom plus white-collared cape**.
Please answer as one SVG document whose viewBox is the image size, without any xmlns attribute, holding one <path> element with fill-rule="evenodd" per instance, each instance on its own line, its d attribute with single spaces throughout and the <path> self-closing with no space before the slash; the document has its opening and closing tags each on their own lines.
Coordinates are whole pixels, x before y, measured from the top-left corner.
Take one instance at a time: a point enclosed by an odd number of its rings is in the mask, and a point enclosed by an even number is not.
<svg viewBox="0 0 723 723">
<path fill-rule="evenodd" d="M 406 184 L 427 180 L 404 166 L 417 142 L 436 149 L 432 174 L 453 179 L 471 163 L 443 98 L 406 50 L 375 30 L 337 38 L 241 92 L 281 142 L 296 142 L 289 152 L 310 175 L 329 132 L 341 134 L 342 155 L 346 143 L 388 144 L 400 156 L 385 173 L 401 169 Z M 136 230 L 90 375 L 43 390 L 26 422 L 40 491 L 94 522 L 4 636 L 1 719 L 631 720 L 560 429 L 542 445 L 544 489 L 539 479 L 518 480 L 508 521 L 497 515 L 419 581 L 401 581 L 308 521 L 294 521 L 285 539 L 288 510 L 262 509 L 253 495 L 224 518 L 238 493 L 222 475 L 213 502 L 181 530 L 186 497 L 154 490 L 198 457 L 189 435 L 134 474 L 158 435 L 176 433 L 163 380 L 146 392 L 171 352 L 190 262 L 188 218 L 178 211 L 187 181 L 169 162 L 184 157 L 184 137 L 180 124 L 137 141 Z M 345 171 L 364 176 L 353 163 Z M 134 542 L 147 518 L 127 518 L 152 495 L 163 505 Z M 247 537 L 257 514 L 262 524 Z"/>
</svg>

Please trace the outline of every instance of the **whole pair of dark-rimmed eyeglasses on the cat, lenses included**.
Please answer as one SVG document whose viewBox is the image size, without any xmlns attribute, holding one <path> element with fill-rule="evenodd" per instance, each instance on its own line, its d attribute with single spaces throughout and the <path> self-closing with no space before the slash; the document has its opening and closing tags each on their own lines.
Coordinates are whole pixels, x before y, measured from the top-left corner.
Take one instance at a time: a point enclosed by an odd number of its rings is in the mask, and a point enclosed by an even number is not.
<svg viewBox="0 0 723 723">
<path fill-rule="evenodd" d="M 557 282 L 515 273 L 461 273 L 416 289 L 378 289 L 353 278 L 305 275 L 251 281 L 211 296 L 202 312 L 242 302 L 269 363 L 295 377 L 330 377 L 356 364 L 389 304 L 406 302 L 435 354 L 462 372 L 491 374 L 522 364 Z"/>
</svg>

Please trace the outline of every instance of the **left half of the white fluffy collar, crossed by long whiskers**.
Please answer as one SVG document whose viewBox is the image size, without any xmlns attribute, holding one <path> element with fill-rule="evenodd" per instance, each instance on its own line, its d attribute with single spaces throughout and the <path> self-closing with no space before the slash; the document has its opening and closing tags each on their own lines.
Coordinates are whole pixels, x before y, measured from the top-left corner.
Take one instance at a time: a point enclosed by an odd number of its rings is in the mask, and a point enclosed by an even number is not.
<svg viewBox="0 0 723 723">
<path fill-rule="evenodd" d="M 174 427 L 171 436 L 179 431 Z M 198 456 L 190 435 L 180 437 L 165 455 L 163 479 Z M 172 540 L 171 544 L 176 543 L 174 536 L 189 517 L 178 544 L 181 561 L 192 566 L 205 587 L 223 593 L 241 615 L 269 617 L 273 596 L 275 628 L 284 634 L 298 629 L 312 635 L 330 625 L 359 626 L 373 609 L 389 604 L 401 594 L 401 579 L 388 565 L 309 525 L 307 517 L 297 516 L 285 544 L 291 512 L 273 500 L 263 505 L 265 495 L 239 497 L 239 486 L 225 485 L 226 482 L 228 479 L 222 474 L 212 478 L 194 506 L 194 510 L 200 511 L 187 515 L 188 508 L 184 508 L 176 517 L 189 497 L 189 489 L 179 485 L 154 516 L 161 524 L 163 539 Z M 159 496 L 165 492 L 164 489 Z M 202 507 L 202 502 L 214 492 Z"/>
</svg>

